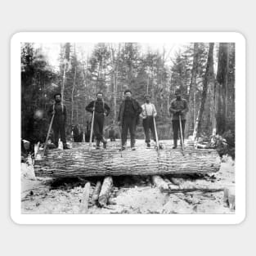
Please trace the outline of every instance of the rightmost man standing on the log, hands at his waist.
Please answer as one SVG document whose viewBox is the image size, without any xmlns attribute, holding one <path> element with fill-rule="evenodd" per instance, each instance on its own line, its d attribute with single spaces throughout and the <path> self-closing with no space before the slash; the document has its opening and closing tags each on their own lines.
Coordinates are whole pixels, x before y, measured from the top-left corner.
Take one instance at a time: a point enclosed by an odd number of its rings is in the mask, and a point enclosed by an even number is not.
<svg viewBox="0 0 256 256">
<path fill-rule="evenodd" d="M 177 148 L 177 132 L 180 131 L 180 123 L 179 119 L 181 116 L 182 120 L 182 135 L 183 135 L 183 142 L 184 142 L 184 130 L 185 130 L 185 123 L 186 123 L 186 113 L 188 111 L 187 102 L 185 99 L 182 98 L 182 92 L 180 89 L 175 91 L 176 99 L 171 102 L 171 106 L 169 108 L 170 113 L 173 114 L 173 149 Z M 181 141 L 182 143 L 182 141 Z"/>
</svg>

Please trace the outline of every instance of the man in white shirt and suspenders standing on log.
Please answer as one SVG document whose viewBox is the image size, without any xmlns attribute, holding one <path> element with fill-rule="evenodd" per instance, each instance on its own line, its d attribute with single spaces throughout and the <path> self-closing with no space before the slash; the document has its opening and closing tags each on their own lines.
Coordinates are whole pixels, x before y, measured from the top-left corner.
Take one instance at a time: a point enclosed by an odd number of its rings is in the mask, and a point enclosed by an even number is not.
<svg viewBox="0 0 256 256">
<path fill-rule="evenodd" d="M 146 102 L 141 106 L 142 112 L 140 116 L 142 118 L 142 124 L 145 132 L 146 146 L 150 147 L 150 132 L 151 137 L 153 137 L 154 141 L 156 141 L 154 119 L 157 113 L 155 110 L 155 105 L 150 103 L 150 95 L 146 94 L 144 98 Z"/>
</svg>

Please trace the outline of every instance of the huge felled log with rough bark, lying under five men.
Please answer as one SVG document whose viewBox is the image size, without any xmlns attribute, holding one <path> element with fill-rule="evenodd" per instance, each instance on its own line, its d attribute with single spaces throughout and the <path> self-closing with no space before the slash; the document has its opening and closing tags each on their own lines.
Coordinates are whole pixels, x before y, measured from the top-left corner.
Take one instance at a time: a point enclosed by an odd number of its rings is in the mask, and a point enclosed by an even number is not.
<svg viewBox="0 0 256 256">
<path fill-rule="evenodd" d="M 92 177 L 213 173 L 220 168 L 216 150 L 187 147 L 184 152 L 182 155 L 180 149 L 170 147 L 156 151 L 144 145 L 120 152 L 110 143 L 106 150 L 89 151 L 88 144 L 79 143 L 70 150 L 49 150 L 45 157 L 35 160 L 34 169 L 40 177 Z"/>
</svg>

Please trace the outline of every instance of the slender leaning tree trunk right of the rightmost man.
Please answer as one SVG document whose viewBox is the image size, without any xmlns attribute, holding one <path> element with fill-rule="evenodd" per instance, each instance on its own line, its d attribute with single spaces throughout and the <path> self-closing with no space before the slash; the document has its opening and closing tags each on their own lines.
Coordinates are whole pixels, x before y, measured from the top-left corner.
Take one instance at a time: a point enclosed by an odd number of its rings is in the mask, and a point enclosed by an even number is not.
<svg viewBox="0 0 256 256">
<path fill-rule="evenodd" d="M 209 53 L 208 53 L 208 60 L 207 60 L 207 66 L 204 74 L 204 81 L 203 81 L 203 92 L 202 92 L 202 98 L 200 102 L 200 109 L 198 111 L 195 128 L 193 132 L 193 138 L 195 140 L 195 137 L 200 136 L 200 129 L 201 129 L 201 120 L 204 112 L 204 103 L 206 101 L 207 97 L 207 90 L 209 86 L 210 76 L 213 74 L 213 47 L 214 43 L 209 43 Z"/>
</svg>

